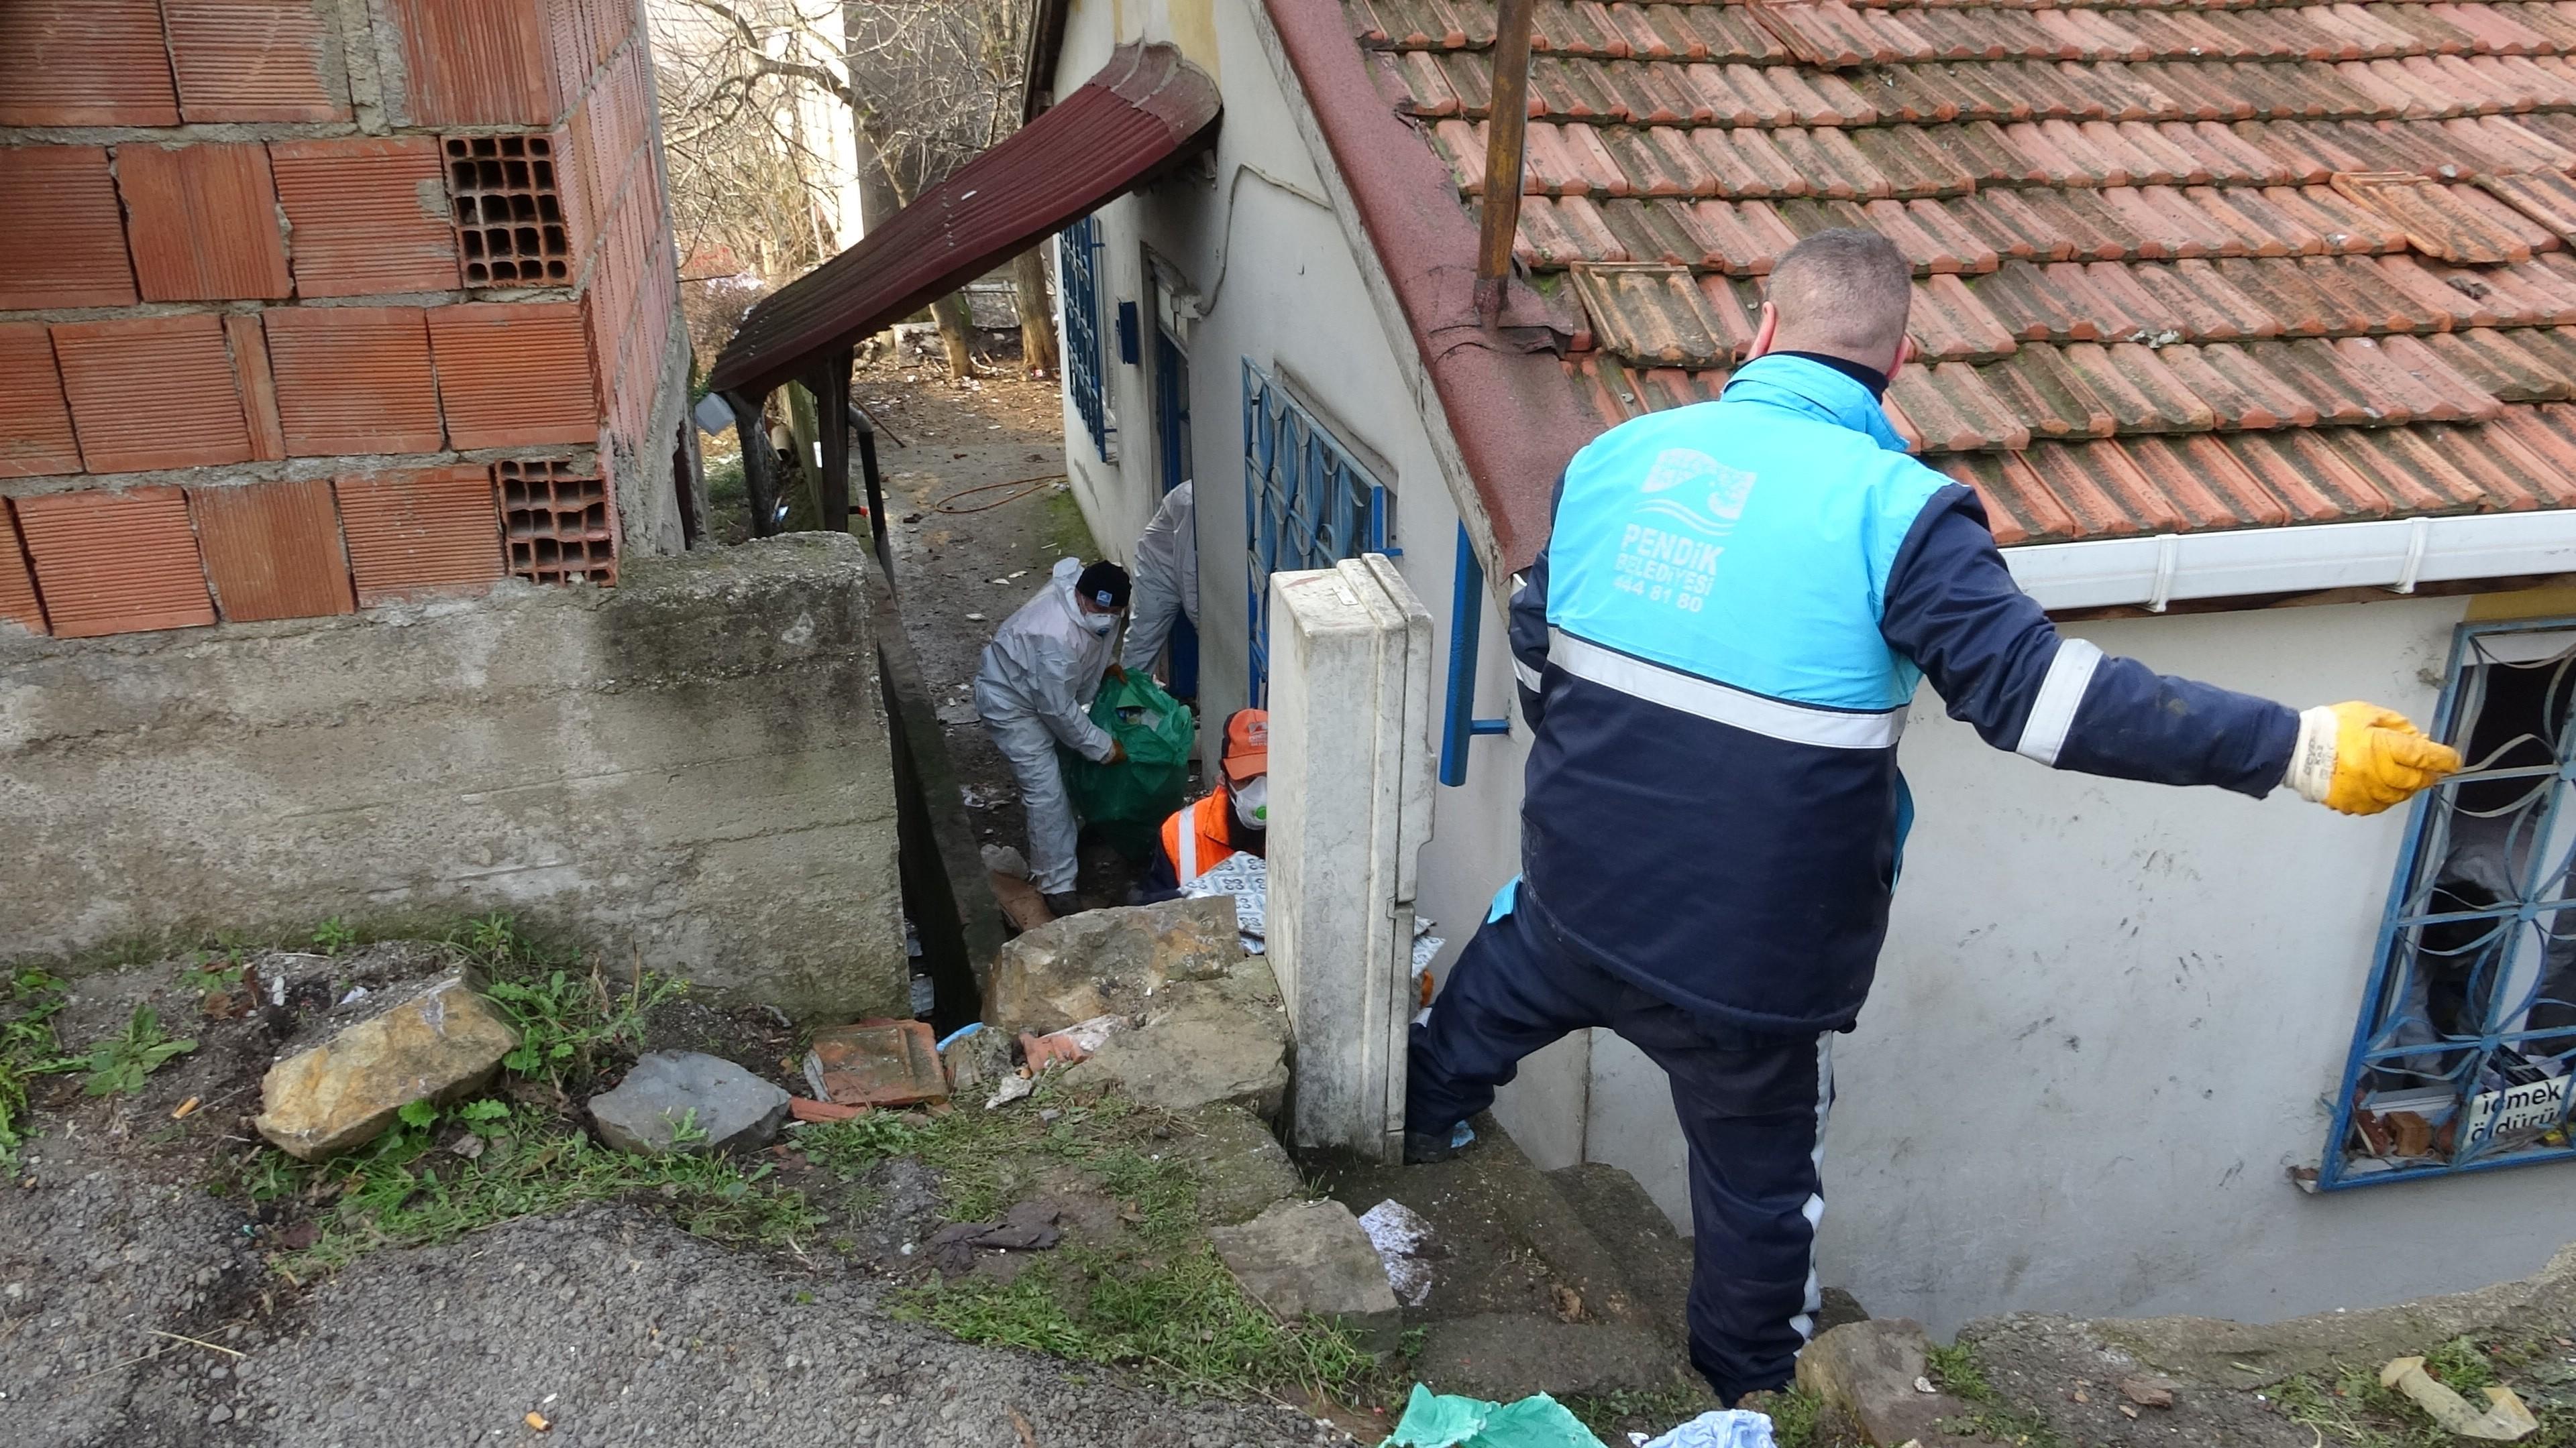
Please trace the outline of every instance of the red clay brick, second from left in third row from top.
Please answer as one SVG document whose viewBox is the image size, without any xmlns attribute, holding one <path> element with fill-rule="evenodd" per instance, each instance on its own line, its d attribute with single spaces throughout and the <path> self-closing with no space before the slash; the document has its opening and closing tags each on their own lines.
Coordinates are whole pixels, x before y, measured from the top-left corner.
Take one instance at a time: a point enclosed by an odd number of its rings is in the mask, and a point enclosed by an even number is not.
<svg viewBox="0 0 2576 1448">
<path fill-rule="evenodd" d="M 52 332 L 88 472 L 250 461 L 250 428 L 216 317 L 54 322 Z"/>
</svg>

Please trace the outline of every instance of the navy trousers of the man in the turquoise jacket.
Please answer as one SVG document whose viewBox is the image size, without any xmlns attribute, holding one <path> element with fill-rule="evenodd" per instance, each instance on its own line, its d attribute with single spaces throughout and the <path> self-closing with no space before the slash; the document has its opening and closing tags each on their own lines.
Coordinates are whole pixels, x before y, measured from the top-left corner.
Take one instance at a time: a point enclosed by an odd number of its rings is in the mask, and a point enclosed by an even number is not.
<svg viewBox="0 0 2576 1448">
<path fill-rule="evenodd" d="M 1618 1031 L 1672 1077 L 1690 1141 L 1690 1363 L 1728 1407 L 1788 1386 L 1821 1306 L 1832 1036 L 1690 1015 L 1582 958 L 1522 907 L 1476 930 L 1430 1020 L 1414 1025 L 1406 1131 L 1448 1134 L 1494 1103 L 1522 1056 L 1587 1025 Z"/>
</svg>

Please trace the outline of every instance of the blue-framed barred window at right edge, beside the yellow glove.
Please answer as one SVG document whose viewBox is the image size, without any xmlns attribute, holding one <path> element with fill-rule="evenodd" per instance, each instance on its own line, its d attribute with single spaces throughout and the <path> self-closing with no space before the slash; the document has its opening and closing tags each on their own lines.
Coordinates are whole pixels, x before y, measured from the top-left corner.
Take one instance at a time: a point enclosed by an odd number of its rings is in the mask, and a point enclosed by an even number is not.
<svg viewBox="0 0 2576 1448">
<path fill-rule="evenodd" d="M 2576 618 L 2468 624 L 2318 1188 L 2576 1157 Z"/>
</svg>

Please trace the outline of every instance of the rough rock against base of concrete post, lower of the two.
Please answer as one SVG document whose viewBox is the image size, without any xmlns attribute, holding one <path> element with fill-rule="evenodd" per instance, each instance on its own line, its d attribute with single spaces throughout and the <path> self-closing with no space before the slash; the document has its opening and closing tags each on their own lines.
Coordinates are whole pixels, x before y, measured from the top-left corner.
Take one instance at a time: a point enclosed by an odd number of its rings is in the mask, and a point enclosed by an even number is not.
<svg viewBox="0 0 2576 1448">
<path fill-rule="evenodd" d="M 1069 1067 L 1064 1087 L 1115 1090 L 1162 1110 L 1231 1103 L 1275 1118 L 1288 1095 L 1288 1013 L 1270 964 L 1244 956 L 1224 979 L 1162 987 L 1144 1025 Z"/>
</svg>

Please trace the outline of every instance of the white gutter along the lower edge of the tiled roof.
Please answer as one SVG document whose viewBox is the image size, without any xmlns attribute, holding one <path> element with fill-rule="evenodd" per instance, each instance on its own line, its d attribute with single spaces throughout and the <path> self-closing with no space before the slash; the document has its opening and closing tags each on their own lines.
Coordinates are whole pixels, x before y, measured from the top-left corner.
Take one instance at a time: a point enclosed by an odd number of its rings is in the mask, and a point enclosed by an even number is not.
<svg viewBox="0 0 2576 1448">
<path fill-rule="evenodd" d="M 2576 572 L 2576 508 L 2236 533 L 2159 533 L 2004 549 L 2043 608 L 2251 598 L 2329 587 L 2414 593 L 2419 582 Z"/>
</svg>

